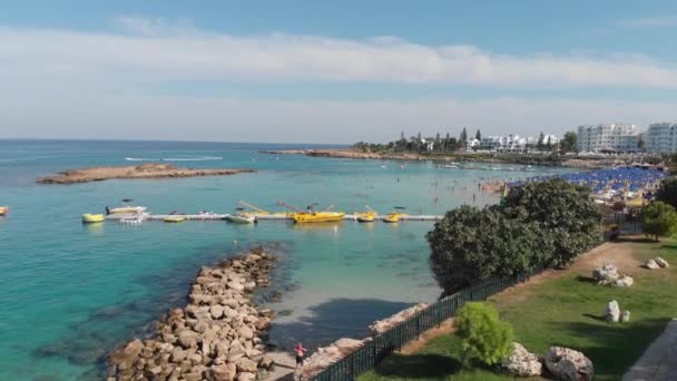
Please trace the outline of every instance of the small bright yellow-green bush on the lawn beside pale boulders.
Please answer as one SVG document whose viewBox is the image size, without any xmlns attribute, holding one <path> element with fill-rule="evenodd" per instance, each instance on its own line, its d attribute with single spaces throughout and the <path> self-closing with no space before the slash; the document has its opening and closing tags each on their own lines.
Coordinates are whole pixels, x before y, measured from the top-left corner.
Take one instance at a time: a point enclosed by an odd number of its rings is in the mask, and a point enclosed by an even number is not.
<svg viewBox="0 0 677 381">
<path fill-rule="evenodd" d="M 478 359 L 485 364 L 494 364 L 510 355 L 512 326 L 499 320 L 492 305 L 465 303 L 455 318 L 455 334 L 461 338 L 463 361 Z"/>
</svg>

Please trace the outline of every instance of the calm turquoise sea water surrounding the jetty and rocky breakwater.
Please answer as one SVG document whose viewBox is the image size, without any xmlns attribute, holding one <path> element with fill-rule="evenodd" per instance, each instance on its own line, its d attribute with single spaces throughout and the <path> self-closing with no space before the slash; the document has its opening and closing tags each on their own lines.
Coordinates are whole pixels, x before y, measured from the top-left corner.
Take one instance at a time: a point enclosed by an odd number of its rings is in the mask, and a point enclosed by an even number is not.
<svg viewBox="0 0 677 381">
<path fill-rule="evenodd" d="M 0 379 L 96 379 L 105 354 L 173 305 L 184 303 L 200 265 L 249 245 L 281 257 L 276 287 L 282 315 L 272 341 L 308 345 L 361 336 L 366 324 L 440 290 L 428 267 L 424 235 L 432 223 L 295 226 L 224 222 L 85 226 L 80 215 L 121 198 L 151 212 L 228 213 L 245 199 L 269 211 L 276 201 L 320 203 L 353 212 L 405 206 L 442 214 L 460 204 L 496 202 L 480 178 L 537 172 L 439 169 L 433 163 L 264 155 L 290 145 L 0 140 Z M 68 168 L 128 165 L 126 158 L 178 159 L 190 167 L 255 168 L 255 174 L 186 179 L 107 180 L 68 186 L 35 178 Z M 401 168 L 401 165 L 404 165 Z M 502 167 L 510 167 L 503 165 Z M 436 198 L 436 202 L 435 202 Z"/>
</svg>

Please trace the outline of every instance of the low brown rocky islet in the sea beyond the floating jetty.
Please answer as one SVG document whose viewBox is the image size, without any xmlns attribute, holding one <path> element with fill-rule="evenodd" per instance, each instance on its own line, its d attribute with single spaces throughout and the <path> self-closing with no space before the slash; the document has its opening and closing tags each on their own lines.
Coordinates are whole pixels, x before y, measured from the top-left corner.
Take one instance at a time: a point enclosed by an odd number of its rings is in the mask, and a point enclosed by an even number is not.
<svg viewBox="0 0 677 381">
<path fill-rule="evenodd" d="M 55 176 L 38 177 L 38 184 L 82 184 L 102 182 L 114 178 L 185 178 L 202 176 L 229 176 L 242 173 L 254 173 L 255 169 L 195 169 L 177 167 L 170 164 L 145 163 L 141 165 L 102 166 L 68 169 Z"/>
</svg>

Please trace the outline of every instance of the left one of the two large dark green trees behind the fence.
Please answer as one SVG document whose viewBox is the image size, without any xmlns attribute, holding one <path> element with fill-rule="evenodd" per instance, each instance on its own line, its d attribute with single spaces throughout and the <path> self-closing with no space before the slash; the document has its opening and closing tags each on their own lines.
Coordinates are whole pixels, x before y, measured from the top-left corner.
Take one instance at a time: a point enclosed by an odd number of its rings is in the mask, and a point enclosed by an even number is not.
<svg viewBox="0 0 677 381">
<path fill-rule="evenodd" d="M 465 205 L 448 212 L 426 238 L 432 273 L 447 295 L 490 276 L 524 273 L 547 263 L 553 247 L 538 224 Z"/>
</svg>

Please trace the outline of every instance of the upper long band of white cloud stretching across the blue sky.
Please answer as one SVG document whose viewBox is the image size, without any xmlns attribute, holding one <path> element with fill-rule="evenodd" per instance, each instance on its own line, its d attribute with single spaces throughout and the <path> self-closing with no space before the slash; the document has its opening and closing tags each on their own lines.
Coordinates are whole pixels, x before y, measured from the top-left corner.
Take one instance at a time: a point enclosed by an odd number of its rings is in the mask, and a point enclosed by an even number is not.
<svg viewBox="0 0 677 381">
<path fill-rule="evenodd" d="M 232 36 L 120 18 L 129 33 L 0 29 L 0 79 L 363 81 L 508 88 L 677 88 L 677 68 L 615 56 L 526 57 L 477 47 L 424 46 L 396 38 L 347 40 L 272 33 Z"/>
</svg>

